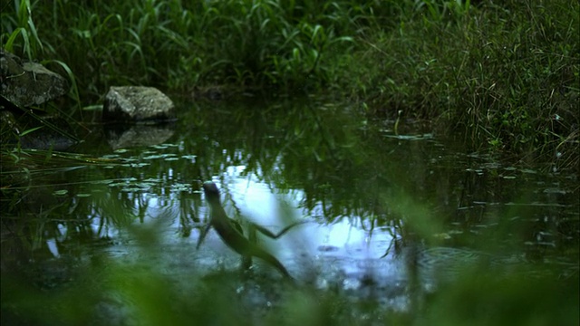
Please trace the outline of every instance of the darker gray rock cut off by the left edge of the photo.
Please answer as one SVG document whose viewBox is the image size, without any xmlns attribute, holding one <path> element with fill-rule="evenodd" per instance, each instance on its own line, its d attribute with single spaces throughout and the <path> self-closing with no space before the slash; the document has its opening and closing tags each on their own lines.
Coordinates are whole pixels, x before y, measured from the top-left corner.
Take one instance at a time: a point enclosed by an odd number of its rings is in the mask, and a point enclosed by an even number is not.
<svg viewBox="0 0 580 326">
<path fill-rule="evenodd" d="M 29 107 L 63 96 L 68 82 L 40 63 L 22 62 L 12 53 L 0 50 L 0 90 L 15 105 Z"/>
</svg>

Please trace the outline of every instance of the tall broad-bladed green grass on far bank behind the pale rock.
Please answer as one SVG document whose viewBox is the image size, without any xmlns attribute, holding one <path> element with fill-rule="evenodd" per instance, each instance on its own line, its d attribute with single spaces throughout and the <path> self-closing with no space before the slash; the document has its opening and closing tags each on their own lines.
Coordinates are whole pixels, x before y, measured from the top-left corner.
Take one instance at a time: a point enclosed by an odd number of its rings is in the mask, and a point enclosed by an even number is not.
<svg viewBox="0 0 580 326">
<path fill-rule="evenodd" d="M 113 84 L 282 91 L 321 85 L 333 53 L 352 46 L 357 18 L 350 14 L 365 10 L 347 1 L 263 0 L 54 1 L 28 9 L 39 30 L 51 31 L 42 34 L 44 54 L 68 62 L 93 97 Z M 6 24 L 5 31 L 14 28 Z"/>
</svg>

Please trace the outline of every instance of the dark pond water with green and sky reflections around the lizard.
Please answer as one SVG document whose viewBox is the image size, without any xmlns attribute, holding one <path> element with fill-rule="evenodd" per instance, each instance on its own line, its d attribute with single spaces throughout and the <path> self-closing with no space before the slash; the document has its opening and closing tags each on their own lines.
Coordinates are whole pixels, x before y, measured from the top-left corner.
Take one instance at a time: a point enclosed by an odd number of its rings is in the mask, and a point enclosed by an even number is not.
<svg viewBox="0 0 580 326">
<path fill-rule="evenodd" d="M 557 159 L 320 99 L 90 129 L 3 158 L 3 324 L 577 324 L 578 175 Z M 293 281 L 214 230 L 196 248 L 204 181 Z"/>
</svg>

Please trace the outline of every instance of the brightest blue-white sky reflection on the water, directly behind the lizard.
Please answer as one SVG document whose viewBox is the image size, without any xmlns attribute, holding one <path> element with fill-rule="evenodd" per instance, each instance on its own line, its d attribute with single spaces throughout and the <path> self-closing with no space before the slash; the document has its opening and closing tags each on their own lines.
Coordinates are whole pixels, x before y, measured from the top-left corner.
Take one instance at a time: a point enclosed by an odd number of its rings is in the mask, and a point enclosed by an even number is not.
<svg viewBox="0 0 580 326">
<path fill-rule="evenodd" d="M 353 222 L 360 221 L 358 216 L 344 216 L 331 225 L 322 225 L 320 220 L 300 208 L 303 191 L 276 191 L 255 175 L 243 176 L 243 171 L 243 167 L 227 168 L 225 175 L 213 179 L 220 188 L 230 217 L 238 213 L 274 233 L 295 221 L 311 222 L 296 225 L 275 240 L 260 236 L 260 243 L 265 244 L 290 273 L 304 273 L 314 268 L 323 276 L 342 274 L 340 278 L 345 278 L 345 282 L 369 273 L 382 280 L 400 278 L 400 265 L 393 264 L 391 254 L 379 259 L 391 245 L 392 236 L 387 230 L 375 228 L 369 235 Z M 314 206 L 313 210 L 323 211 L 322 206 Z"/>
</svg>

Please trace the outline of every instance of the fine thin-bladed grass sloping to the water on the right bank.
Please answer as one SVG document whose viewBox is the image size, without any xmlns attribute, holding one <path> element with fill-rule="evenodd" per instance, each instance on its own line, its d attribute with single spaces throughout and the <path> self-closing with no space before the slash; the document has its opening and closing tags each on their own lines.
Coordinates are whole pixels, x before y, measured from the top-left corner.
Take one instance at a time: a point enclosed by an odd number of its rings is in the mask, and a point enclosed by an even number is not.
<svg viewBox="0 0 580 326">
<path fill-rule="evenodd" d="M 419 2 L 365 35 L 353 97 L 373 114 L 439 120 L 474 149 L 578 164 L 577 3 Z M 354 71 L 353 73 L 356 73 Z"/>
</svg>

